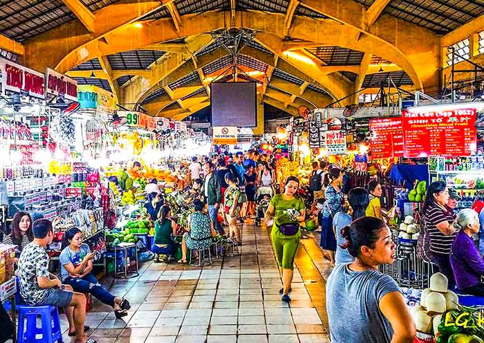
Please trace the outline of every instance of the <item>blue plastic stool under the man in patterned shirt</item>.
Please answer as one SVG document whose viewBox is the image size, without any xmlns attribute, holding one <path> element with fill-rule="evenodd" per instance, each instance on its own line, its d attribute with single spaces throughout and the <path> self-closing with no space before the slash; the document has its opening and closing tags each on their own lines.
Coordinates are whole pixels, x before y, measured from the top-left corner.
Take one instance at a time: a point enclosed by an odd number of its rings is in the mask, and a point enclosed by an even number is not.
<svg viewBox="0 0 484 343">
<path fill-rule="evenodd" d="M 19 305 L 17 310 L 19 311 L 18 343 L 62 343 L 57 307 Z M 41 317 L 40 328 L 37 328 L 37 316 Z M 25 328 L 26 332 L 24 332 Z M 42 335 L 42 337 L 37 338 L 37 335 Z"/>
</svg>

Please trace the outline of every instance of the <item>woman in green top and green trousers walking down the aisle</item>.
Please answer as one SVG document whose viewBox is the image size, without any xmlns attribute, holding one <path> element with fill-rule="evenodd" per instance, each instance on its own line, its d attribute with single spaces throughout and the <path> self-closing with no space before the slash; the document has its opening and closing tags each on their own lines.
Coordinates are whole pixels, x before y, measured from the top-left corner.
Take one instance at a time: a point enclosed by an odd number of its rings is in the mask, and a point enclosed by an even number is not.
<svg viewBox="0 0 484 343">
<path fill-rule="evenodd" d="M 277 194 L 270 200 L 266 212 L 266 226 L 272 224 L 270 238 L 276 252 L 277 264 L 282 268 L 283 288 L 279 290 L 283 302 L 290 302 L 288 293 L 294 269 L 294 257 L 301 239 L 299 223 L 304 221 L 306 206 L 304 201 L 297 196 L 299 179 L 289 176 L 286 180 L 283 194 Z M 273 223 L 271 217 L 274 219 Z"/>
</svg>

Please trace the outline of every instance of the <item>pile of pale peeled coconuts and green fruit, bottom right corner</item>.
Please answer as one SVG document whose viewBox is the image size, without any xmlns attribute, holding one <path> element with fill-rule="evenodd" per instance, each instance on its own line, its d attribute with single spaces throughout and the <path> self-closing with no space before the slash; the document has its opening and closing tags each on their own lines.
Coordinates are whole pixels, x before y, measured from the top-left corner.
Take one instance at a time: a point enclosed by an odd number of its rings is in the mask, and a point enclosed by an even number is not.
<svg viewBox="0 0 484 343">
<path fill-rule="evenodd" d="M 447 285 L 447 277 L 440 272 L 430 278 L 420 305 L 411 309 L 417 331 L 435 335 L 436 343 L 484 343 L 476 308 L 459 305 L 456 293 Z"/>
</svg>

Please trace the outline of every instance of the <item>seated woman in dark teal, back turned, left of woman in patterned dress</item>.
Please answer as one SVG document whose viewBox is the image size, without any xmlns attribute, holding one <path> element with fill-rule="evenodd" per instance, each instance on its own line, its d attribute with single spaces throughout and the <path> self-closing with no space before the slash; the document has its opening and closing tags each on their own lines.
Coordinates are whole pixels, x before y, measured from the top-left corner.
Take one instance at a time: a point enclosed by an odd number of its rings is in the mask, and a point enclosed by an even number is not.
<svg viewBox="0 0 484 343">
<path fill-rule="evenodd" d="M 151 244 L 151 251 L 157 256 L 155 262 L 160 262 L 160 254 L 167 255 L 169 262 L 178 250 L 178 244 L 171 240 L 171 235 L 176 236 L 176 223 L 169 219 L 171 210 L 168 205 L 162 205 L 158 221 L 155 223 L 155 237 Z"/>
</svg>

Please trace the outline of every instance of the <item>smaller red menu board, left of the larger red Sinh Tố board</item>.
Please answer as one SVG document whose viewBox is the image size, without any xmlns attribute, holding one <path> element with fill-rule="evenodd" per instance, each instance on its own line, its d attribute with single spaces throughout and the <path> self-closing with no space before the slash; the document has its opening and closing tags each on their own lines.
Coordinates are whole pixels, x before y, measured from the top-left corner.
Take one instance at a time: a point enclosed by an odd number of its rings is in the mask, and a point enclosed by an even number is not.
<svg viewBox="0 0 484 343">
<path fill-rule="evenodd" d="M 370 120 L 371 157 L 403 157 L 402 118 Z"/>
</svg>

